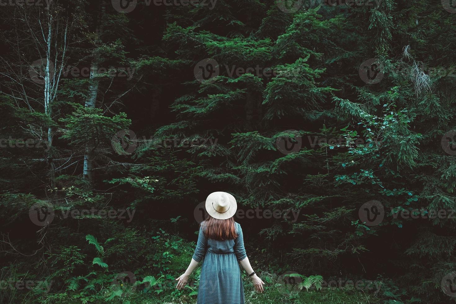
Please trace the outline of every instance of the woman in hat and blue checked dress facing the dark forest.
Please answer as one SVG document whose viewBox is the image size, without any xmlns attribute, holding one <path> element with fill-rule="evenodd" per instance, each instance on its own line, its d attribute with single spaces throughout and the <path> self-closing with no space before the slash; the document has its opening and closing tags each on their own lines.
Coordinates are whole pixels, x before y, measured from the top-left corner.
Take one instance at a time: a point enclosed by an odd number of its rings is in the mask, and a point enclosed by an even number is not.
<svg viewBox="0 0 456 304">
<path fill-rule="evenodd" d="M 206 199 L 209 218 L 201 223 L 198 243 L 192 262 L 184 274 L 176 278 L 176 288 L 185 287 L 188 277 L 204 259 L 197 304 L 244 304 L 244 286 L 239 264 L 249 274 L 257 291 L 264 282 L 250 266 L 244 249 L 241 225 L 234 222 L 237 204 L 226 192 L 213 192 Z"/>
</svg>

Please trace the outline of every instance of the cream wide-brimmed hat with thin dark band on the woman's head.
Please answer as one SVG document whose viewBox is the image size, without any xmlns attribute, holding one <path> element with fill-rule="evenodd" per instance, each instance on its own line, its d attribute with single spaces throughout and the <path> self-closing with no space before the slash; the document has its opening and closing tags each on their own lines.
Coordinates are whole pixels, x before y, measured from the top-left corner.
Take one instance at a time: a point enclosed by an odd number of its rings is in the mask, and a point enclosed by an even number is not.
<svg viewBox="0 0 456 304">
<path fill-rule="evenodd" d="M 213 218 L 226 220 L 236 213 L 236 199 L 226 192 L 212 192 L 206 199 L 206 211 Z"/>
</svg>

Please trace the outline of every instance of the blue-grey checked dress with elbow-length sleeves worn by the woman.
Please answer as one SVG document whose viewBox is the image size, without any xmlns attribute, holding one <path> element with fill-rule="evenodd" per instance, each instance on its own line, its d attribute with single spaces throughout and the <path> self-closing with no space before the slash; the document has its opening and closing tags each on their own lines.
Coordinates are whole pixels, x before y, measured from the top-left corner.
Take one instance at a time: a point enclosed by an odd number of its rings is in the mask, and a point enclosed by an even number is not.
<svg viewBox="0 0 456 304">
<path fill-rule="evenodd" d="M 247 254 L 241 225 L 234 222 L 238 234 L 236 239 L 217 241 L 207 239 L 203 223 L 193 254 L 195 261 L 203 260 L 197 304 L 244 304 L 244 286 L 238 262 Z"/>
</svg>

